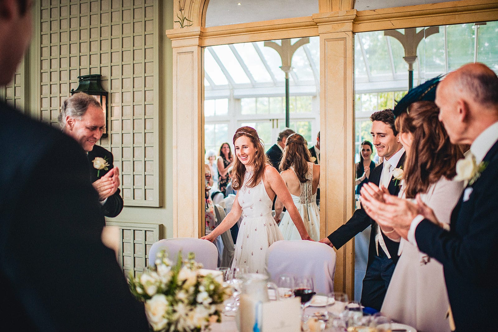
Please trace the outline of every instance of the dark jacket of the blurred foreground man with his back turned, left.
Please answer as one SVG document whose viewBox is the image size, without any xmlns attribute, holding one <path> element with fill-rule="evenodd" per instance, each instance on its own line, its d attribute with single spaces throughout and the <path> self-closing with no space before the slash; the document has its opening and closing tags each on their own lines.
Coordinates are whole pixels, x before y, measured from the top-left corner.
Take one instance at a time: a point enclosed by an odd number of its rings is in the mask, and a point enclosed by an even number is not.
<svg viewBox="0 0 498 332">
<path fill-rule="evenodd" d="M 147 331 L 116 254 L 87 156 L 0 103 L 0 321 L 16 331 Z"/>
</svg>

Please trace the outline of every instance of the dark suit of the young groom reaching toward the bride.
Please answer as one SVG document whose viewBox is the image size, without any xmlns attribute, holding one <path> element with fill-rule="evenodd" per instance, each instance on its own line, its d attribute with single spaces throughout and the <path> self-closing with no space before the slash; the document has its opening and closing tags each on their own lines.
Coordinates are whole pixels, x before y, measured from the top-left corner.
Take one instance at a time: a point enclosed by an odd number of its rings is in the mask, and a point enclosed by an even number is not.
<svg viewBox="0 0 498 332">
<path fill-rule="evenodd" d="M 405 154 L 403 153 L 396 167 L 402 166 L 404 164 L 404 159 Z M 369 182 L 379 185 L 382 168 L 383 163 L 371 171 Z M 396 183 L 395 185 L 395 181 L 391 177 L 387 189 L 392 195 L 397 195 L 399 192 L 399 183 Z M 385 292 L 387 291 L 388 281 L 392 276 L 394 266 L 398 260 L 399 243 L 389 240 L 387 236 L 382 234 L 385 246 L 387 247 L 391 258 L 388 258 L 385 255 L 383 250 L 380 248 L 380 245 L 378 246 L 377 255 L 377 250 L 375 248 L 375 225 L 375 221 L 367 215 L 362 206 L 361 209 L 355 211 L 351 219 L 348 220 L 346 224 L 342 225 L 335 232 L 329 235 L 328 239 L 332 242 L 335 248 L 339 249 L 344 246 L 346 242 L 353 239 L 358 233 L 363 232 L 367 227 L 372 226 L 372 232 L 370 233 L 367 273 L 365 275 L 365 279 L 363 280 L 362 304 L 366 307 L 380 310 L 385 297 Z M 380 275 L 382 275 L 382 278 Z"/>
</svg>

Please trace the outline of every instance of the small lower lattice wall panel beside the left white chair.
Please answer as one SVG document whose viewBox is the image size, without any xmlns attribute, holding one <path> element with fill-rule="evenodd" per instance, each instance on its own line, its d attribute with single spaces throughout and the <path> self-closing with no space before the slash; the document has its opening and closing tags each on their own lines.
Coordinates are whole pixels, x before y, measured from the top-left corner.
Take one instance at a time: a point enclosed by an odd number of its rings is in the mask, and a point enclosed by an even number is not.
<svg viewBox="0 0 498 332">
<path fill-rule="evenodd" d="M 107 222 L 109 226 L 120 228 L 121 248 L 118 260 L 126 276 L 141 274 L 148 265 L 150 247 L 162 239 L 163 225 L 150 225 L 142 223 Z"/>
</svg>

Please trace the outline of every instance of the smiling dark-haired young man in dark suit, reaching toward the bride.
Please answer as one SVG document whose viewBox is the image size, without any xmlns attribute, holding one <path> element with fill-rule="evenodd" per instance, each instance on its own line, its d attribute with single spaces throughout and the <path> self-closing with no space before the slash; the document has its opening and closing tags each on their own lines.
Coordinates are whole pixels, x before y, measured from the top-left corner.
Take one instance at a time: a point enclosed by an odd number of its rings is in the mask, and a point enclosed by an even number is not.
<svg viewBox="0 0 498 332">
<path fill-rule="evenodd" d="M 405 154 L 394 127 L 394 114 L 390 109 L 385 109 L 373 113 L 370 119 L 372 120 L 373 145 L 377 149 L 378 156 L 384 157 L 384 162 L 372 170 L 369 180 L 376 185 L 382 184 L 391 194 L 397 195 L 399 185 L 392 178 L 392 173 L 394 168 L 403 165 Z M 370 233 L 369 259 L 363 279 L 361 302 L 366 307 L 380 311 L 398 259 L 399 242 L 391 241 L 383 234 L 363 207 L 356 210 L 346 224 L 320 242 L 339 249 L 370 225 L 372 225 L 372 232 Z"/>
</svg>

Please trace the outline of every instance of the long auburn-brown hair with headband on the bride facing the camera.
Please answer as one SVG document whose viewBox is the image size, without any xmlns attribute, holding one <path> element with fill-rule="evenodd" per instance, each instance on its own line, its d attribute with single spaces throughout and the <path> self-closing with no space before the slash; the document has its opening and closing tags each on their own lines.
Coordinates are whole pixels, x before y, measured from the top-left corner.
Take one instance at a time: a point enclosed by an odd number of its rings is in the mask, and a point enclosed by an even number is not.
<svg viewBox="0 0 498 332">
<path fill-rule="evenodd" d="M 254 187 L 263 178 L 264 167 L 266 166 L 266 164 L 268 164 L 268 157 L 266 157 L 266 154 L 264 153 L 263 142 L 257 135 L 257 132 L 254 128 L 246 126 L 237 129 L 234 135 L 234 146 L 235 141 L 242 136 L 246 136 L 247 138 L 249 138 L 252 145 L 254 146 L 254 149 L 256 149 L 253 159 L 254 172 L 252 173 L 248 181 L 248 187 Z M 234 168 L 232 169 L 232 174 L 232 188 L 234 188 L 234 190 L 239 190 L 244 182 L 246 166 L 241 163 L 237 156 L 234 160 Z"/>
</svg>

